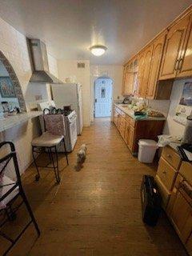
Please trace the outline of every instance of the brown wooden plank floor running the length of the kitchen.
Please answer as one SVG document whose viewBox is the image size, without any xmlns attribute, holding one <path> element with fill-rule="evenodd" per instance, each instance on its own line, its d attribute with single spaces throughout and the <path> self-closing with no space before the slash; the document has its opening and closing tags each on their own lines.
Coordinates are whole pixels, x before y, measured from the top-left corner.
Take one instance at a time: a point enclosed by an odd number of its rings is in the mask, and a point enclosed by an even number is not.
<svg viewBox="0 0 192 256">
<path fill-rule="evenodd" d="M 76 153 L 82 143 L 87 144 L 87 158 L 77 172 Z M 60 185 L 55 185 L 52 170 L 42 170 L 39 182 L 34 182 L 34 166 L 24 174 L 26 195 L 42 234 L 36 239 L 31 225 L 9 255 L 186 255 L 164 214 L 154 228 L 143 224 L 142 175 L 155 174 L 155 168 L 130 154 L 109 119 L 96 119 L 85 128 L 69 158 L 66 168 L 64 158 L 60 160 Z M 26 216 L 19 210 L 6 230 L 14 234 Z"/>
</svg>

